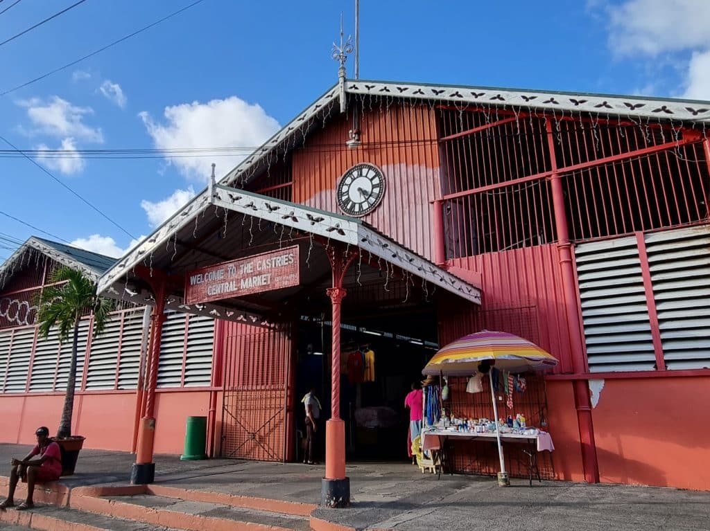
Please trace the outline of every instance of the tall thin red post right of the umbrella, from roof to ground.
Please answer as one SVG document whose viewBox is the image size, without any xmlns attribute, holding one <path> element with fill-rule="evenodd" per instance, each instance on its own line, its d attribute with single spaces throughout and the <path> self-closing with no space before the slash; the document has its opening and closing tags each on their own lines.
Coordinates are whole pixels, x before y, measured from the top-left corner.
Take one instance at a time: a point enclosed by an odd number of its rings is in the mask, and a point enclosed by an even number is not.
<svg viewBox="0 0 710 531">
<path fill-rule="evenodd" d="M 569 347 L 572 354 L 572 369 L 574 374 L 585 374 L 588 371 L 584 356 L 584 341 L 579 328 L 579 313 L 577 308 L 577 284 L 574 280 L 574 264 L 572 263 L 572 243 L 569 241 L 569 226 L 567 225 L 567 208 L 564 206 L 564 189 L 562 178 L 555 171 L 555 138 L 552 133 L 552 122 L 547 121 L 547 144 L 550 149 L 552 177 L 552 206 L 555 211 L 555 228 L 557 229 L 557 251 L 562 269 L 562 289 L 564 290 L 564 307 L 567 312 L 569 327 Z M 577 425 L 579 425 L 579 440 L 581 442 L 581 459 L 584 466 L 584 479 L 587 483 L 599 483 L 599 463 L 596 459 L 596 444 L 594 442 L 594 423 L 591 418 L 591 400 L 589 384 L 586 380 L 573 380 L 574 405 L 577 408 Z"/>
</svg>

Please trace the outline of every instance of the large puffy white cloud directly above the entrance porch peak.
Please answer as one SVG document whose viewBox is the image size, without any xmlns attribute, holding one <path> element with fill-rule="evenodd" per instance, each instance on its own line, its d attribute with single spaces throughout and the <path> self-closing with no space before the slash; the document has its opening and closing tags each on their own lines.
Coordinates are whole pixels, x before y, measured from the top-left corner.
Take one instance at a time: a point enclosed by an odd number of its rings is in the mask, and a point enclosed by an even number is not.
<svg viewBox="0 0 710 531">
<path fill-rule="evenodd" d="M 147 113 L 143 119 L 155 147 L 171 150 L 185 147 L 256 147 L 275 133 L 280 125 L 258 104 L 231 96 L 214 99 L 207 104 L 194 101 L 165 108 L 165 124 L 153 121 Z M 165 157 L 180 172 L 192 179 L 207 181 L 216 162 L 219 174 L 225 174 L 246 155 L 223 157 Z"/>
</svg>

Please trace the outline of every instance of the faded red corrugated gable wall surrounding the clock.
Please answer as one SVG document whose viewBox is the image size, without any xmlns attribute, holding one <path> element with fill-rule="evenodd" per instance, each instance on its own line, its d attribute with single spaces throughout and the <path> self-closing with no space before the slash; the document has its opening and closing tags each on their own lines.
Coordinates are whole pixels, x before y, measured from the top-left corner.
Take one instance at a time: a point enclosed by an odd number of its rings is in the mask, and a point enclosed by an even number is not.
<svg viewBox="0 0 710 531">
<path fill-rule="evenodd" d="M 424 257 L 431 257 L 432 206 L 440 196 L 436 117 L 429 106 L 373 105 L 361 116 L 361 140 L 345 146 L 351 120 L 337 116 L 293 153 L 293 201 L 340 213 L 335 187 L 349 167 L 378 166 L 385 175 L 381 205 L 362 219 Z"/>
</svg>

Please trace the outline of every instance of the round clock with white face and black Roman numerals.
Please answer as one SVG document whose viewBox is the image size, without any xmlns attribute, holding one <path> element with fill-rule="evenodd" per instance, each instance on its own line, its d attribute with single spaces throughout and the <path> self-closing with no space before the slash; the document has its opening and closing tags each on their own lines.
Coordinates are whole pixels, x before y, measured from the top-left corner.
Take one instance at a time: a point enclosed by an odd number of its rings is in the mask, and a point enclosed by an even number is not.
<svg viewBox="0 0 710 531">
<path fill-rule="evenodd" d="M 348 216 L 365 216 L 382 201 L 385 177 L 372 164 L 356 164 L 343 174 L 338 184 L 338 206 Z"/>
</svg>

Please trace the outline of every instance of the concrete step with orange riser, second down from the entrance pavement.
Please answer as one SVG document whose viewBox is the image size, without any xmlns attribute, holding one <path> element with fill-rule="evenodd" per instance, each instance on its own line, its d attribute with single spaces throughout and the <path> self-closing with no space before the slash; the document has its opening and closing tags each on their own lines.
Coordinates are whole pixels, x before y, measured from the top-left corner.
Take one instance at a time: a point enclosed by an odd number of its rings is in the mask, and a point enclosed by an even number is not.
<svg viewBox="0 0 710 531">
<path fill-rule="evenodd" d="M 188 531 L 310 530 L 310 518 L 305 515 L 168 498 L 148 493 L 74 498 L 72 506 L 82 511 Z"/>
</svg>

